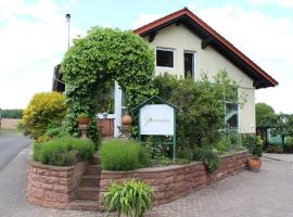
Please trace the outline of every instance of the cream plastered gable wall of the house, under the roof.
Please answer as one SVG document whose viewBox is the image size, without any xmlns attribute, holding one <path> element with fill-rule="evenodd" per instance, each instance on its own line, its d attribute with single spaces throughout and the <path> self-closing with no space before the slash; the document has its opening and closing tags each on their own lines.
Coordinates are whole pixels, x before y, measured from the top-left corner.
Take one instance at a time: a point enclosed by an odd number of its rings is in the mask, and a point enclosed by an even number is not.
<svg viewBox="0 0 293 217">
<path fill-rule="evenodd" d="M 145 38 L 146 41 L 148 38 Z M 201 39 L 187 29 L 183 25 L 171 25 L 158 31 L 155 39 L 150 42 L 150 47 L 154 50 L 156 48 L 168 48 L 175 50 L 175 68 L 156 68 L 156 74 L 169 73 L 179 77 L 184 76 L 184 51 L 192 51 L 196 53 L 195 79 L 200 77 L 201 72 L 208 74 L 213 78 L 219 69 L 226 69 L 229 76 L 239 85 L 239 93 L 245 93 L 247 102 L 243 108 L 240 108 L 239 126 L 241 132 L 255 132 L 255 88 L 253 80 L 246 76 L 240 68 L 234 66 L 225 56 L 219 54 L 212 47 L 204 50 L 201 48 Z"/>
</svg>

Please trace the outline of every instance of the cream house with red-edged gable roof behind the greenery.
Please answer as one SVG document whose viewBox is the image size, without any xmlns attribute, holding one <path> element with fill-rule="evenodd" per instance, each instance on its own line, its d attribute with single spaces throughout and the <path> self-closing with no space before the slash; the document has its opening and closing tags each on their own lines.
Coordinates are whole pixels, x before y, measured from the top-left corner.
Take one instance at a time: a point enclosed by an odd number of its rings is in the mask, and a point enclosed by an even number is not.
<svg viewBox="0 0 293 217">
<path fill-rule="evenodd" d="M 255 132 L 255 91 L 278 85 L 271 76 L 216 33 L 187 8 L 133 30 L 155 51 L 155 73 L 199 79 L 201 72 L 213 77 L 226 69 L 240 86 L 247 102 L 243 107 L 227 103 L 227 123 L 240 133 Z M 243 38 L 245 40 L 245 38 Z M 115 84 L 114 136 L 123 114 L 122 91 Z"/>
</svg>

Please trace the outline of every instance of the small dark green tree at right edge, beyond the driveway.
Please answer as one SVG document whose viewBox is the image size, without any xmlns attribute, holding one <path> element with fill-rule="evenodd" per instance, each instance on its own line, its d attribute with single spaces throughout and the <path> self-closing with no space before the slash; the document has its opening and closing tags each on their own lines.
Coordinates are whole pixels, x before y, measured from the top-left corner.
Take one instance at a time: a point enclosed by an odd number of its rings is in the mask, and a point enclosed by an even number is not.
<svg viewBox="0 0 293 217">
<path fill-rule="evenodd" d="M 278 136 L 282 138 L 282 144 L 284 144 L 285 137 L 293 136 L 293 115 L 291 114 L 279 114 L 277 115 L 277 123 L 271 130 L 272 136 Z"/>
</svg>

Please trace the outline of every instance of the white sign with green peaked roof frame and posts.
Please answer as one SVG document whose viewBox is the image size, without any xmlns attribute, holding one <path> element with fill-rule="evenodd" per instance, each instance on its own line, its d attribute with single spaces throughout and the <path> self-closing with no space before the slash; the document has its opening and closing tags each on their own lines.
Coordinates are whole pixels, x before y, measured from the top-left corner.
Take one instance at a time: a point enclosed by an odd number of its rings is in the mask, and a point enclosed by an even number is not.
<svg viewBox="0 0 293 217">
<path fill-rule="evenodd" d="M 135 107 L 131 113 L 139 112 L 139 142 L 142 136 L 173 137 L 173 141 L 160 142 L 173 145 L 173 161 L 176 158 L 176 115 L 179 107 L 160 97 L 152 97 Z M 158 141 L 154 141 L 158 143 Z"/>
</svg>

